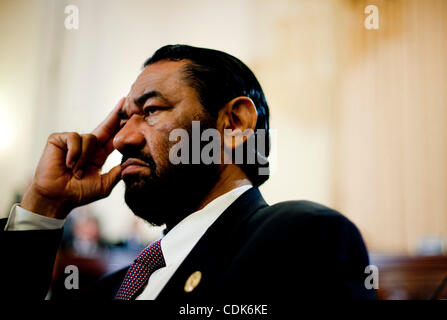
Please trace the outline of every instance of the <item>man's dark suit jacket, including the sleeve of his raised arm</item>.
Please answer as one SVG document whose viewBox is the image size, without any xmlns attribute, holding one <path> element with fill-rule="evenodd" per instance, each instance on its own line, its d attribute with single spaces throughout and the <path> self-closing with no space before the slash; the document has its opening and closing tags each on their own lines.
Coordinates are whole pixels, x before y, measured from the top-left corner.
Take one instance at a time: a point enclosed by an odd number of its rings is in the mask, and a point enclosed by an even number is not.
<svg viewBox="0 0 447 320">
<path fill-rule="evenodd" d="M 62 231 L 0 231 L 1 295 L 43 299 Z M 268 206 L 257 188 L 240 196 L 189 253 L 158 300 L 374 299 L 365 288 L 368 254 L 344 216 L 309 201 Z M 202 279 L 192 292 L 185 281 Z M 113 299 L 127 272 L 119 270 L 83 293 Z"/>
</svg>

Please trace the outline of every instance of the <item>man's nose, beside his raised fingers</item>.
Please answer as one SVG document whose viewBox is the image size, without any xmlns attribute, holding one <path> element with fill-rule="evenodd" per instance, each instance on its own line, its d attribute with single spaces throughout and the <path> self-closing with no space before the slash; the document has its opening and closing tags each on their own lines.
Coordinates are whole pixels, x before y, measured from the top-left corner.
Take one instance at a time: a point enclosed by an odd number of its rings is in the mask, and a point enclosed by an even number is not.
<svg viewBox="0 0 447 320">
<path fill-rule="evenodd" d="M 144 147 L 145 139 L 141 132 L 139 118 L 139 115 L 133 115 L 113 138 L 113 146 L 119 152 L 123 153 L 123 150 L 132 147 L 138 149 Z"/>
</svg>

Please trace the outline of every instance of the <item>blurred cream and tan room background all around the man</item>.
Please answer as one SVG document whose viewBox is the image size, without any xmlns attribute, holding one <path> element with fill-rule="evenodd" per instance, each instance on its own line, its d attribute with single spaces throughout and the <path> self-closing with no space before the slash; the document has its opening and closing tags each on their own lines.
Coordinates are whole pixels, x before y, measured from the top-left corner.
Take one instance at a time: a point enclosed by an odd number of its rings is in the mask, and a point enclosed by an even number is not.
<svg viewBox="0 0 447 320">
<path fill-rule="evenodd" d="M 68 5 L 78 29 L 65 27 Z M 368 5 L 378 29 L 365 27 Z M 0 0 L 2 217 L 48 135 L 91 131 L 145 59 L 174 43 L 223 50 L 257 75 L 275 129 L 274 170 L 261 187 L 269 203 L 307 199 L 351 219 L 384 270 L 382 298 L 442 291 L 446 0 Z M 120 159 L 115 151 L 105 170 Z M 160 235 L 133 216 L 123 192 L 120 182 L 66 227 L 75 256 L 111 259 L 98 274 Z M 111 254 L 119 247 L 127 249 Z"/>
</svg>

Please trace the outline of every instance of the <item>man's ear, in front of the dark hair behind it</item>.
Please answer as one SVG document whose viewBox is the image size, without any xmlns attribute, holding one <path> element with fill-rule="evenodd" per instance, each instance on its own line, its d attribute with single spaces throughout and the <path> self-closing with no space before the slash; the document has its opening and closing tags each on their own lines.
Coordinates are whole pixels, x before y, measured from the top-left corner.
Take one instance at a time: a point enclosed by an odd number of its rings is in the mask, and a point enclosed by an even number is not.
<svg viewBox="0 0 447 320">
<path fill-rule="evenodd" d="M 225 148 L 236 149 L 244 144 L 254 134 L 257 120 L 256 106 L 249 97 L 240 96 L 228 102 L 217 120 Z"/>
</svg>

